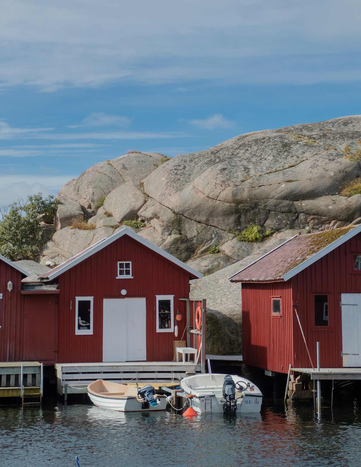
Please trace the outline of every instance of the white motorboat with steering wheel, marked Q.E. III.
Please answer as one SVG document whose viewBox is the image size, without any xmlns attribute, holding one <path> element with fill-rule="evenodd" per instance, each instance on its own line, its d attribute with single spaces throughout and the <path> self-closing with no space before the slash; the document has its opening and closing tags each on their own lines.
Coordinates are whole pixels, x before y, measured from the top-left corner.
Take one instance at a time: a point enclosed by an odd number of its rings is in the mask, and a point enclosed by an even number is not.
<svg viewBox="0 0 361 467">
<path fill-rule="evenodd" d="M 180 386 L 198 413 L 259 413 L 262 392 L 248 379 L 237 375 L 208 374 L 183 378 Z"/>
</svg>

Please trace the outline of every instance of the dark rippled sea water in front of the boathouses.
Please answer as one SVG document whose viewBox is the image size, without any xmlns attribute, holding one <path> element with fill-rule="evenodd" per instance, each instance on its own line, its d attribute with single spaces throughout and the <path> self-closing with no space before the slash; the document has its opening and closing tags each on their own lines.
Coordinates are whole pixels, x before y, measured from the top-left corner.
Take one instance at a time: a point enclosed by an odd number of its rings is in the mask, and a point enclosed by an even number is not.
<svg viewBox="0 0 361 467">
<path fill-rule="evenodd" d="M 359 400 L 313 407 L 264 403 L 258 416 L 192 420 L 93 405 L 0 408 L 0 466 L 360 466 Z"/>
</svg>

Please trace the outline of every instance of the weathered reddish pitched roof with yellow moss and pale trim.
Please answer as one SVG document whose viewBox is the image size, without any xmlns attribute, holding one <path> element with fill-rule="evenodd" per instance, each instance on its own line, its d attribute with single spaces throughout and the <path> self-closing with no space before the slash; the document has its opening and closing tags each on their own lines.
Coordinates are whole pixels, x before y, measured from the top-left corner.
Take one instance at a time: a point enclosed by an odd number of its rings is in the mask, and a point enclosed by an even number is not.
<svg viewBox="0 0 361 467">
<path fill-rule="evenodd" d="M 229 277 L 231 282 L 288 281 L 361 232 L 361 224 L 295 235 Z"/>
</svg>

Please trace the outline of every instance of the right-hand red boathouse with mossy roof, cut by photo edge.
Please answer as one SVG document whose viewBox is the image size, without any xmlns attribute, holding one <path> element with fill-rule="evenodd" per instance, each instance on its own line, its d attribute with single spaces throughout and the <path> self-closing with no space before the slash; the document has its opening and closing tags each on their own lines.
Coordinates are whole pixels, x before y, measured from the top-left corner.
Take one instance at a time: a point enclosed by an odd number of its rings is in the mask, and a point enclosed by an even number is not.
<svg viewBox="0 0 361 467">
<path fill-rule="evenodd" d="M 241 283 L 243 362 L 287 373 L 361 367 L 361 226 L 296 235 L 229 278 Z"/>
</svg>

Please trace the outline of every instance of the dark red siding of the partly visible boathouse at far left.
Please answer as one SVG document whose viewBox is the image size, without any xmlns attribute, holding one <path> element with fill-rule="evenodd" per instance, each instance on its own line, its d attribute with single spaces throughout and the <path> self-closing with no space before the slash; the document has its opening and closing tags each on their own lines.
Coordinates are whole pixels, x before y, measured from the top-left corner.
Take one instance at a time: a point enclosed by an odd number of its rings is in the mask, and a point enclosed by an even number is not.
<svg viewBox="0 0 361 467">
<path fill-rule="evenodd" d="M 21 272 L 0 259 L 0 361 L 21 360 L 22 304 Z M 13 290 L 7 291 L 7 283 Z"/>
</svg>

